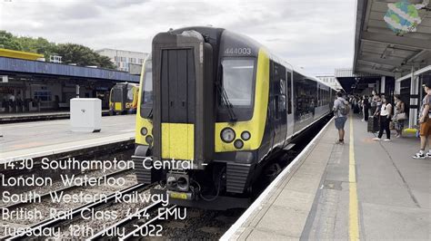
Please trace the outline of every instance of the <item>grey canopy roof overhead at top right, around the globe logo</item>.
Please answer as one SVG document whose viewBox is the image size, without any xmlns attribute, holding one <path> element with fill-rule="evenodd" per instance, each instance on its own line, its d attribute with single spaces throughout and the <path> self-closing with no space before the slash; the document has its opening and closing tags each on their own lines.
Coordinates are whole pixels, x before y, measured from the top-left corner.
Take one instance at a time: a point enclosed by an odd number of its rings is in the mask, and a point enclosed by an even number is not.
<svg viewBox="0 0 431 241">
<path fill-rule="evenodd" d="M 418 10 L 422 22 L 416 32 L 396 34 L 384 16 L 388 4 L 400 1 L 357 0 L 354 72 L 397 77 L 411 72 L 412 66 L 417 70 L 431 64 L 431 5 Z"/>
</svg>

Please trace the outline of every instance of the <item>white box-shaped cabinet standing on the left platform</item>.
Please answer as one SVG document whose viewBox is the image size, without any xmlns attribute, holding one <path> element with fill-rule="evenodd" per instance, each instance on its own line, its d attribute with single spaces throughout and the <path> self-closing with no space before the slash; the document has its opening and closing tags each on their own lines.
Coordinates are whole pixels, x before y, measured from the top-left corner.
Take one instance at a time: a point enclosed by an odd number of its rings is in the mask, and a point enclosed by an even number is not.
<svg viewBox="0 0 431 241">
<path fill-rule="evenodd" d="M 97 132 L 102 125 L 102 101 L 97 98 L 70 100 L 70 124 L 75 132 Z"/>
</svg>

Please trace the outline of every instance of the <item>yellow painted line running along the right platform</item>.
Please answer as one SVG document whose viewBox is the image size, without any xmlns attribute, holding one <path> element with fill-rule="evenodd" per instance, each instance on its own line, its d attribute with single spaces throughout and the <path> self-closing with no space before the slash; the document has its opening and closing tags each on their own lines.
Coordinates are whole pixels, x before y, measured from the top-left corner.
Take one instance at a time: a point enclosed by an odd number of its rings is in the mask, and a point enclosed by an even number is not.
<svg viewBox="0 0 431 241">
<path fill-rule="evenodd" d="M 348 235 L 350 240 L 359 240 L 359 218 L 357 208 L 356 190 L 356 162 L 355 162 L 355 141 L 353 137 L 353 118 L 350 115 L 350 141 L 349 141 L 349 204 L 348 204 Z"/>
</svg>

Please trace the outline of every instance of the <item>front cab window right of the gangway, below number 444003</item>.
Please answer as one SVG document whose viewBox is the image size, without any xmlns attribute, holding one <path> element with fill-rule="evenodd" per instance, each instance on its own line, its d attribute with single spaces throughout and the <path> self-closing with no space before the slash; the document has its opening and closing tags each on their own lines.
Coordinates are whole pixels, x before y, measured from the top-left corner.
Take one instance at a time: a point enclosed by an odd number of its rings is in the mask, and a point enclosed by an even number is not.
<svg viewBox="0 0 431 241">
<path fill-rule="evenodd" d="M 234 106 L 251 106 L 255 61 L 252 59 L 225 59 L 222 65 L 223 87 L 229 101 Z"/>
</svg>

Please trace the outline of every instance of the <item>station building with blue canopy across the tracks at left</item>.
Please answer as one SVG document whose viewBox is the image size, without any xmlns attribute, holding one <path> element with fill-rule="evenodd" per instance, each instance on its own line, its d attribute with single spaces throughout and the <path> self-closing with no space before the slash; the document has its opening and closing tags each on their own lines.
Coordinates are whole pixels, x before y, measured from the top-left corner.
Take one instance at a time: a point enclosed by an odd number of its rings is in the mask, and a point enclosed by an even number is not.
<svg viewBox="0 0 431 241">
<path fill-rule="evenodd" d="M 0 49 L 0 113 L 69 109 L 75 97 L 99 98 L 108 108 L 116 82 L 139 82 L 139 75 L 44 62 L 42 54 Z"/>
</svg>

